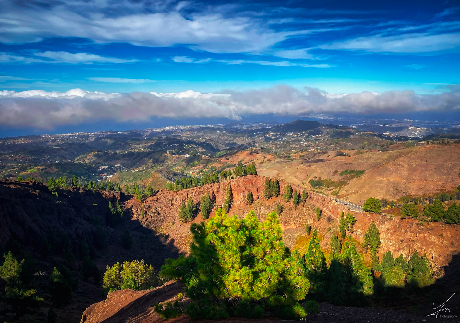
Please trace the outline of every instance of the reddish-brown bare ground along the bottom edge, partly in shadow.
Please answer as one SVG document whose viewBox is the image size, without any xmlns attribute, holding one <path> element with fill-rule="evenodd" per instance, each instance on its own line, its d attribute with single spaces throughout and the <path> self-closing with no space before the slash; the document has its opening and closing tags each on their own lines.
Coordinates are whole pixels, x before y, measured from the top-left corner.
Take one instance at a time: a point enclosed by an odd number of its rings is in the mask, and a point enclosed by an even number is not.
<svg viewBox="0 0 460 323">
<path fill-rule="evenodd" d="M 213 320 L 196 320 L 185 315 L 169 319 L 161 319 L 153 310 L 155 302 L 163 303 L 177 299 L 177 294 L 182 291 L 182 285 L 173 281 L 166 283 L 160 288 L 153 290 L 134 291 L 119 290 L 110 293 L 107 300 L 93 304 L 83 313 L 81 323 L 211 323 Z M 184 300 L 186 304 L 188 300 Z M 456 310 L 456 308 L 455 308 Z M 333 306 L 328 303 L 319 303 L 319 313 L 308 314 L 307 322 L 330 323 L 330 322 L 455 322 L 455 319 L 443 320 L 435 317 L 426 317 L 431 314 L 429 306 L 415 306 L 411 314 L 408 308 L 394 307 L 389 308 L 357 308 L 345 306 Z M 460 313 L 450 313 L 458 315 Z M 288 322 L 265 315 L 262 319 L 249 319 L 239 317 L 229 317 L 219 320 L 222 323 L 238 322 L 265 322 L 265 323 L 282 323 Z"/>
</svg>

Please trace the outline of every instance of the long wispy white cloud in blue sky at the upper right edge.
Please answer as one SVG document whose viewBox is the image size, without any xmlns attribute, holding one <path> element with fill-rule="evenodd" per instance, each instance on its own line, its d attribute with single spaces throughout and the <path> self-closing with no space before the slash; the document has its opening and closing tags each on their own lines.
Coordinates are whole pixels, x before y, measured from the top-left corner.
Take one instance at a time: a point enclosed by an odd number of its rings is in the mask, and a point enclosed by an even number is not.
<svg viewBox="0 0 460 323">
<path fill-rule="evenodd" d="M 393 53 L 424 53 L 443 50 L 459 50 L 460 34 L 433 35 L 428 33 L 413 33 L 393 36 L 383 36 L 379 34 L 320 45 L 318 48 Z"/>
</svg>

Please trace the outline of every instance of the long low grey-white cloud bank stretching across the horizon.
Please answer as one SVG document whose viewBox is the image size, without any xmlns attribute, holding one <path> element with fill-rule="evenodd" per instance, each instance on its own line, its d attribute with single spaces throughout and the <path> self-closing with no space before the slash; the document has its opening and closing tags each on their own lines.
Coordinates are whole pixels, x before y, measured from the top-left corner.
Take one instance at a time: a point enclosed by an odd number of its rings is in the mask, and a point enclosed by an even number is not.
<svg viewBox="0 0 460 323">
<path fill-rule="evenodd" d="M 0 126 L 52 129 L 62 125 L 112 121 L 148 121 L 152 117 L 229 118 L 274 113 L 408 113 L 459 111 L 460 85 L 434 95 L 414 91 L 326 94 L 287 85 L 269 89 L 226 91 L 224 94 L 132 92 L 104 93 L 74 89 L 67 92 L 0 91 Z"/>
</svg>

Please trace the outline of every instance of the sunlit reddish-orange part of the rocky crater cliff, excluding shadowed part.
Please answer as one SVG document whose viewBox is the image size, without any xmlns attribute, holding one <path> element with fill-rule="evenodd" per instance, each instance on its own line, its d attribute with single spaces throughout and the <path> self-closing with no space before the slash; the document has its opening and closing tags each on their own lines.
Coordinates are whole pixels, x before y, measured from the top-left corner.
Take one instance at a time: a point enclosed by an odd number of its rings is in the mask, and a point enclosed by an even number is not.
<svg viewBox="0 0 460 323">
<path fill-rule="evenodd" d="M 283 229 L 283 239 L 289 247 L 293 247 L 298 238 L 305 236 L 305 224 L 309 223 L 312 228 L 317 228 L 322 237 L 322 248 L 329 249 L 329 238 L 337 231 L 340 220 L 340 213 L 349 211 L 343 204 L 333 199 L 324 197 L 317 193 L 309 193 L 308 201 L 294 207 L 292 202 L 286 203 L 282 197 L 271 198 L 268 201 L 263 196 L 265 177 L 244 176 L 234 180 L 208 184 L 201 187 L 184 189 L 179 192 L 161 190 L 156 196 L 146 198 L 138 202 L 131 199 L 125 206 L 132 210 L 132 218 L 140 221 L 145 227 L 149 227 L 166 234 L 179 250 L 188 252 L 191 241 L 189 227 L 193 222 L 202 221 L 201 215 L 191 223 L 179 221 L 178 208 L 182 201 L 192 198 L 194 203 L 199 204 L 201 196 L 207 191 L 215 196 L 216 206 L 222 205 L 225 198 L 225 189 L 230 185 L 233 192 L 233 204 L 230 215 L 243 217 L 249 210 L 255 210 L 260 220 L 263 220 L 267 213 L 276 209 L 276 204 L 283 205 L 284 210 L 280 215 L 280 222 Z M 280 182 L 281 193 L 284 193 L 285 182 Z M 293 190 L 300 192 L 303 188 L 292 185 Z M 249 206 L 245 195 L 251 191 L 254 196 L 254 204 Z M 322 218 L 316 220 L 314 209 L 319 207 L 322 210 Z M 357 219 L 354 226 L 353 238 L 362 241 L 364 232 L 369 224 L 375 221 L 380 231 L 381 246 L 380 259 L 384 252 L 390 250 L 393 255 L 403 253 L 405 256 L 412 255 L 415 251 L 428 256 L 431 266 L 438 270 L 446 266 L 452 259 L 452 255 L 460 250 L 460 226 L 445 225 L 432 222 L 430 225 L 424 223 L 418 225 L 419 221 L 391 217 L 388 215 L 377 215 L 366 212 L 351 211 Z M 212 214 L 211 214 L 212 216 Z M 329 229 L 328 229 L 329 228 Z M 441 237 L 440 234 L 443 234 Z"/>
</svg>

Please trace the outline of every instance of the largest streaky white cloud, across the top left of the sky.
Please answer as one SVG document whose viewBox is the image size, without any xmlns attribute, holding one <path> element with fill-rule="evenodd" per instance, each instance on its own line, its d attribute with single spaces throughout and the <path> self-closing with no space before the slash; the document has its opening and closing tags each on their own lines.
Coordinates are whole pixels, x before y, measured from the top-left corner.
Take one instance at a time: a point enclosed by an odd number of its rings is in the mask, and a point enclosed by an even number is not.
<svg viewBox="0 0 460 323">
<path fill-rule="evenodd" d="M 142 4 L 144 5 L 144 4 Z M 186 13 L 184 6 L 155 12 L 131 1 L 72 1 L 50 6 L 0 5 L 3 43 L 36 42 L 45 37 L 79 37 L 96 43 L 167 47 L 190 45 L 211 52 L 260 52 L 290 32 L 276 32 L 252 17 L 216 12 Z M 189 4 L 188 6 L 191 6 Z M 161 9 L 161 8 L 160 8 Z M 110 12 L 110 14 L 109 14 Z M 19 27 L 20 26 L 20 27 Z"/>
</svg>

